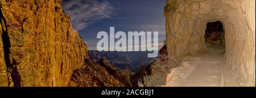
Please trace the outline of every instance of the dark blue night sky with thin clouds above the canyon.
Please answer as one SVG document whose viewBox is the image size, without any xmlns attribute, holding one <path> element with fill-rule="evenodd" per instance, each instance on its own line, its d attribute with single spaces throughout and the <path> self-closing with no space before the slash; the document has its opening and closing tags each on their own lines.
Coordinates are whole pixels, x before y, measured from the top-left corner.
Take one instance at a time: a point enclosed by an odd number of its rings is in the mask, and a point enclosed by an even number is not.
<svg viewBox="0 0 256 98">
<path fill-rule="evenodd" d="M 165 0 L 64 0 L 73 28 L 80 32 L 89 50 L 97 50 L 97 33 L 159 32 L 159 48 L 166 38 L 163 15 Z M 115 39 L 118 40 L 118 39 Z"/>
</svg>

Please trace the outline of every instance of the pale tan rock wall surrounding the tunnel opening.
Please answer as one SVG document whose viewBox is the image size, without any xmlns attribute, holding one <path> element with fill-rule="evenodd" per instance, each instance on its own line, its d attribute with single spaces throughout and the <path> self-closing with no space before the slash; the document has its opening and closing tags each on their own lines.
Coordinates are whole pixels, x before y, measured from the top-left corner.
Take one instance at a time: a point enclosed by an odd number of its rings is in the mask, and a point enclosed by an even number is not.
<svg viewBox="0 0 256 98">
<path fill-rule="evenodd" d="M 225 63 L 243 86 L 255 86 L 254 0 L 167 0 L 168 54 L 182 57 L 205 50 L 208 22 L 221 21 L 225 30 Z"/>
</svg>

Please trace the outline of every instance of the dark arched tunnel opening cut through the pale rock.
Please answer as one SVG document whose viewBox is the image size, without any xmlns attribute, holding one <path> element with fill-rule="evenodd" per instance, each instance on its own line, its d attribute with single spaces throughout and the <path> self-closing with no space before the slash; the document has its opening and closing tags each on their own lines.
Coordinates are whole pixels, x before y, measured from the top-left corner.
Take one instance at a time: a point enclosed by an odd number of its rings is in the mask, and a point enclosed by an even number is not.
<svg viewBox="0 0 256 98">
<path fill-rule="evenodd" d="M 207 23 L 207 29 L 205 30 L 205 42 L 208 45 L 217 45 L 225 48 L 225 32 L 221 21 L 215 21 Z"/>
</svg>

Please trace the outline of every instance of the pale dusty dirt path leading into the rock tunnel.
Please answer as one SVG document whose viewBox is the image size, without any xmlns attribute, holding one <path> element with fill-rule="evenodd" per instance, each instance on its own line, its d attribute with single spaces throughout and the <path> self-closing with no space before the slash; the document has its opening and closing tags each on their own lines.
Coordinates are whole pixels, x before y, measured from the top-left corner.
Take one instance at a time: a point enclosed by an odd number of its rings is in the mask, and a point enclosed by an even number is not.
<svg viewBox="0 0 256 98">
<path fill-rule="evenodd" d="M 228 68 L 222 63 L 224 50 L 220 46 L 208 46 L 200 55 L 184 57 L 183 66 L 172 69 L 167 75 L 165 87 L 237 86 L 236 82 L 230 80 L 233 76 L 229 75 Z"/>
</svg>

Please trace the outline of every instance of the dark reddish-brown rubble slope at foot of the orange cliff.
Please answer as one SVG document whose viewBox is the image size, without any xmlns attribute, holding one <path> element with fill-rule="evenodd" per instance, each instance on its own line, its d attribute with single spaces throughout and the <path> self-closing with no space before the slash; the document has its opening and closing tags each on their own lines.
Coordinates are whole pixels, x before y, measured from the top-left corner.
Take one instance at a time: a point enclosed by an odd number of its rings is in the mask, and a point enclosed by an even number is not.
<svg viewBox="0 0 256 98">
<path fill-rule="evenodd" d="M 117 74 L 108 72 L 111 66 L 98 65 L 91 60 L 85 60 L 85 64 L 80 69 L 76 69 L 72 74 L 71 81 L 68 86 L 72 87 L 125 87 L 126 84 L 119 81 L 120 77 Z M 113 76 L 113 74 L 115 74 Z M 119 79 L 118 79 L 119 78 Z M 125 79 L 123 79 L 125 81 Z M 126 81 L 129 82 L 129 81 Z"/>
</svg>

